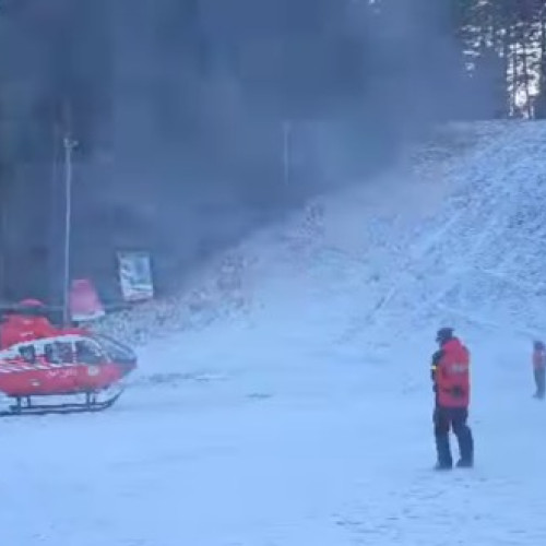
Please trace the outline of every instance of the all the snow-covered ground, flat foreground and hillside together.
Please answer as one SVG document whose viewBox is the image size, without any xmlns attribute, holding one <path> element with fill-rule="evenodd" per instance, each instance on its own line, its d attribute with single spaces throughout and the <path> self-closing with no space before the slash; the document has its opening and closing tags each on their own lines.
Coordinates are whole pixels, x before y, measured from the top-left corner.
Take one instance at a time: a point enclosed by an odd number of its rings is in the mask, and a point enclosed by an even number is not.
<svg viewBox="0 0 546 546">
<path fill-rule="evenodd" d="M 109 413 L 2 422 L 0 543 L 544 543 L 546 127 L 460 131 L 471 147 L 323 197 L 234 249 L 222 282 L 214 265 L 105 324 L 141 342 L 131 389 Z M 473 351 L 476 468 L 436 474 L 448 322 Z"/>
</svg>

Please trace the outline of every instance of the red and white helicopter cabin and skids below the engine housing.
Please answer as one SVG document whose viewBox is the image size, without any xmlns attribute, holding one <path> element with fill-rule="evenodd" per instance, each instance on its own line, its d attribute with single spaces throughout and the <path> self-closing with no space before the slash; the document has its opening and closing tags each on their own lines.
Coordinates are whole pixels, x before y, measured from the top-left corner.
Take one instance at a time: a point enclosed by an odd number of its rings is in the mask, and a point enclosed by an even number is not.
<svg viewBox="0 0 546 546">
<path fill-rule="evenodd" d="M 0 417 L 107 410 L 135 368 L 131 348 L 83 329 L 56 329 L 49 337 L 12 344 L 0 351 L 0 396 L 11 399 Z"/>
</svg>

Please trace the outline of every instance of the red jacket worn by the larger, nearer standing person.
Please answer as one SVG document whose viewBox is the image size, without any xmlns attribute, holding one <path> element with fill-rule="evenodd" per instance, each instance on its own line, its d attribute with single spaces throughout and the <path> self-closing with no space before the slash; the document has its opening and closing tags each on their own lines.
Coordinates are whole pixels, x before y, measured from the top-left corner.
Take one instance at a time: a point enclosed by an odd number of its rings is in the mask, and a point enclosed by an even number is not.
<svg viewBox="0 0 546 546">
<path fill-rule="evenodd" d="M 468 407 L 470 352 L 456 337 L 442 345 L 435 371 L 437 403 L 441 407 Z"/>
</svg>

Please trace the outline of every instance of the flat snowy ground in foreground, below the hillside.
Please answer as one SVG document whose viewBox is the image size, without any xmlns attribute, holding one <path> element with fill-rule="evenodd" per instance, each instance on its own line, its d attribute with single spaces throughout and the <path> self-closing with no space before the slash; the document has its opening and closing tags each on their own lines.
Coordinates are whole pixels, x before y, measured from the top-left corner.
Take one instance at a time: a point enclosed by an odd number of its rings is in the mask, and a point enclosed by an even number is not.
<svg viewBox="0 0 546 546">
<path fill-rule="evenodd" d="M 534 546 L 546 533 L 546 407 L 515 361 L 522 342 L 503 357 L 476 347 L 477 467 L 438 475 L 426 351 L 404 376 L 333 348 L 305 360 L 297 344 L 228 359 L 228 339 L 214 347 L 224 381 L 134 388 L 108 414 L 4 425 L 3 542 Z M 185 342 L 197 360 L 211 355 L 205 337 Z"/>
</svg>

